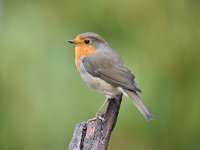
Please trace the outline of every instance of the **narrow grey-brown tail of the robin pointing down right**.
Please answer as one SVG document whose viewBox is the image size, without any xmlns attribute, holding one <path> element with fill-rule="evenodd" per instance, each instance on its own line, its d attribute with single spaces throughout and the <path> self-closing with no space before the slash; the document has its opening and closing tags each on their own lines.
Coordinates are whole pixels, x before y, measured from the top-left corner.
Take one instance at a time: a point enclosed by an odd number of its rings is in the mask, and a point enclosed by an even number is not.
<svg viewBox="0 0 200 150">
<path fill-rule="evenodd" d="M 144 103 L 141 101 L 139 95 L 135 91 L 129 91 L 124 89 L 124 92 L 128 95 L 128 97 L 130 97 L 133 100 L 135 106 L 139 109 L 139 111 L 147 120 L 153 120 L 153 115 L 149 112 L 149 110 L 146 108 Z"/>
</svg>

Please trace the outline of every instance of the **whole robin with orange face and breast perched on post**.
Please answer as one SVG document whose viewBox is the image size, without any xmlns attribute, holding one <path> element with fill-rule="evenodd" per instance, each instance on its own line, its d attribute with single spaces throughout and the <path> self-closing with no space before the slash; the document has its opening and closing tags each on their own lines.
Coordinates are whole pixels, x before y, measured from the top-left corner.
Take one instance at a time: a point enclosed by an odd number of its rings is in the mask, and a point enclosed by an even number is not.
<svg viewBox="0 0 200 150">
<path fill-rule="evenodd" d="M 86 32 L 68 42 L 75 44 L 76 68 L 90 88 L 105 95 L 106 101 L 123 93 L 133 100 L 147 120 L 153 119 L 138 95 L 142 91 L 135 82 L 135 76 L 100 35 Z"/>
</svg>

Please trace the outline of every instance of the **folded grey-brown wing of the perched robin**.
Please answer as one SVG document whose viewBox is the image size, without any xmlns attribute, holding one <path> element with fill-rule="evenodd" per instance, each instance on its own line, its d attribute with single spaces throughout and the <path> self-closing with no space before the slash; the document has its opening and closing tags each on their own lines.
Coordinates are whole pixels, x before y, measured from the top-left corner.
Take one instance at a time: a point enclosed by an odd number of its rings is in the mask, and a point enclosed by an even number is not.
<svg viewBox="0 0 200 150">
<path fill-rule="evenodd" d="M 103 79 L 116 87 L 141 92 L 135 83 L 135 76 L 123 65 L 116 54 L 102 53 L 86 56 L 82 63 L 85 70 L 92 76 Z"/>
</svg>

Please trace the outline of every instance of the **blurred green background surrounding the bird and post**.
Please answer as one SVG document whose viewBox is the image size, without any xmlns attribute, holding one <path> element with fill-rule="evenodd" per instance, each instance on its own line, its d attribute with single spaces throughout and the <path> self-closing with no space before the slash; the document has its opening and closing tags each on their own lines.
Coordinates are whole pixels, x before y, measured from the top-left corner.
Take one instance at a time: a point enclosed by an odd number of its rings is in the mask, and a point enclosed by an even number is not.
<svg viewBox="0 0 200 150">
<path fill-rule="evenodd" d="M 155 120 L 124 98 L 110 150 L 200 149 L 200 1 L 0 0 L 0 149 L 64 150 L 105 97 L 66 42 L 97 32 L 120 54 Z"/>
</svg>

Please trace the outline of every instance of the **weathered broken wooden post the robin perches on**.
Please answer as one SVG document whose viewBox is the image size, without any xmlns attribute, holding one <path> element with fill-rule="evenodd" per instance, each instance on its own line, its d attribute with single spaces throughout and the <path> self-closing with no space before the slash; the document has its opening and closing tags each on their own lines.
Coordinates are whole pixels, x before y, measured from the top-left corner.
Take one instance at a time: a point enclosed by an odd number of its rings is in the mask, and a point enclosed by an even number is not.
<svg viewBox="0 0 200 150">
<path fill-rule="evenodd" d="M 78 123 L 75 126 L 69 150 L 106 150 L 117 122 L 121 101 L 122 94 L 109 100 L 106 113 L 101 114 L 105 121 L 96 119 L 88 123 Z"/>
</svg>

